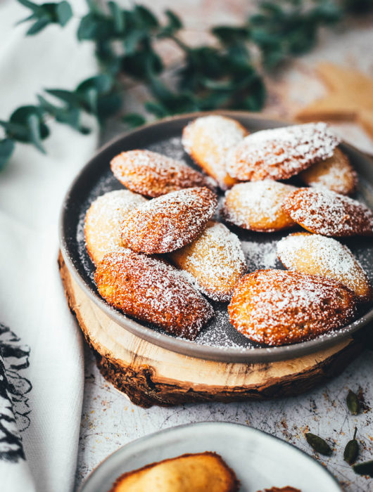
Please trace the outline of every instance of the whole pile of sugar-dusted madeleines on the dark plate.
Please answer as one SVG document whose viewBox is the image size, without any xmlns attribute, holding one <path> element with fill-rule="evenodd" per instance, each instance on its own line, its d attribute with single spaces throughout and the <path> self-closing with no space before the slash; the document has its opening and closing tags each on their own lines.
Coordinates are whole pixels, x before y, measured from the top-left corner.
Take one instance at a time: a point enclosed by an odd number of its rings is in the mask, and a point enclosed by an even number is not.
<svg viewBox="0 0 373 492">
<path fill-rule="evenodd" d="M 229 302 L 229 320 L 270 346 L 312 339 L 353 320 L 372 299 L 362 266 L 334 238 L 373 235 L 373 212 L 349 198 L 358 178 L 325 123 L 248 134 L 228 117 L 199 117 L 184 149 L 206 173 L 149 150 L 111 161 L 127 189 L 97 198 L 85 240 L 106 302 L 166 332 L 194 339 Z M 284 182 L 298 176 L 306 187 Z M 217 209 L 217 190 L 225 198 Z M 246 273 L 236 234 L 301 226 L 279 241 L 286 270 Z"/>
</svg>

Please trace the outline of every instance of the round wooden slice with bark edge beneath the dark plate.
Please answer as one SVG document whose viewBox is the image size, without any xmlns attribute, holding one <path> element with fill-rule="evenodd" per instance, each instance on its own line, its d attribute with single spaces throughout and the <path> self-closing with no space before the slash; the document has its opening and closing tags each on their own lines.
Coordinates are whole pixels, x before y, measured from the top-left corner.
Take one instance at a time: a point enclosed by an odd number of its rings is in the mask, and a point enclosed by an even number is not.
<svg viewBox="0 0 373 492">
<path fill-rule="evenodd" d="M 58 258 L 70 309 L 103 377 L 142 407 L 201 401 L 294 396 L 342 372 L 361 339 L 348 338 L 315 354 L 272 363 L 223 363 L 177 354 L 133 335 L 99 309 Z"/>
</svg>

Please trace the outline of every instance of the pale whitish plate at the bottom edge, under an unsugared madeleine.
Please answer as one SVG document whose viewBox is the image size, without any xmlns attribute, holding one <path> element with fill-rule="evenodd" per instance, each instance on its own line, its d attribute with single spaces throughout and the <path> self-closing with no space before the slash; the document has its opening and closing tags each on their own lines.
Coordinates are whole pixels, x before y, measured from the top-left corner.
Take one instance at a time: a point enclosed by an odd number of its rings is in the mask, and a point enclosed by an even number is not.
<svg viewBox="0 0 373 492">
<path fill-rule="evenodd" d="M 106 492 L 122 473 L 204 451 L 215 451 L 232 467 L 241 481 L 240 492 L 286 485 L 302 492 L 342 491 L 326 468 L 277 437 L 246 425 L 200 422 L 171 427 L 123 446 L 91 472 L 80 492 Z"/>
</svg>

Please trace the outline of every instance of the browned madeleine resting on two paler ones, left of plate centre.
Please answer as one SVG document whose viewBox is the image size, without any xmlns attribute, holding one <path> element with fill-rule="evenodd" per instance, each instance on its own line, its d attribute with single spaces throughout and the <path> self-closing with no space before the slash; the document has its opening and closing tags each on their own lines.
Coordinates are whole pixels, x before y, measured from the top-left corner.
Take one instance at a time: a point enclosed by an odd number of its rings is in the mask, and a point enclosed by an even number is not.
<svg viewBox="0 0 373 492">
<path fill-rule="evenodd" d="M 194 240 L 217 206 L 208 188 L 186 188 L 147 202 L 122 223 L 122 243 L 146 254 L 175 251 Z"/>
</svg>

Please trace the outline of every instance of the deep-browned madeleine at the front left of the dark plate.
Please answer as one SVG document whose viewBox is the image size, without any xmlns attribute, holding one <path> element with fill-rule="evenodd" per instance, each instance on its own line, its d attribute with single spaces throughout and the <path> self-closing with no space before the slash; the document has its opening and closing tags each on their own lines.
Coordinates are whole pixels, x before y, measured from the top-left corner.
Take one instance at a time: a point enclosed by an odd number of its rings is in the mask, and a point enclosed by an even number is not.
<svg viewBox="0 0 373 492">
<path fill-rule="evenodd" d="M 187 339 L 194 339 L 213 317 L 208 301 L 180 271 L 127 248 L 106 254 L 94 279 L 111 306 Z"/>
</svg>

